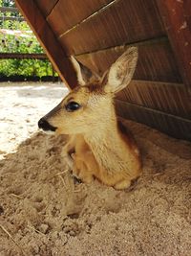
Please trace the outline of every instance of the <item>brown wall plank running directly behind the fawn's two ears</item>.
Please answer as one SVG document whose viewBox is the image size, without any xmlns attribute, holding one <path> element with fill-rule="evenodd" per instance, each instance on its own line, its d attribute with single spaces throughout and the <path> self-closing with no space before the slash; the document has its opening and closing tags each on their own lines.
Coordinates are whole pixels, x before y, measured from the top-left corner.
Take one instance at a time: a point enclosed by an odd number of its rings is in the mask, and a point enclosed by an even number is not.
<svg viewBox="0 0 191 256">
<path fill-rule="evenodd" d="M 176 60 L 166 37 L 134 44 L 138 46 L 138 66 L 134 78 L 146 81 L 181 82 Z M 130 45 L 76 56 L 84 65 L 103 74 Z"/>
</svg>

